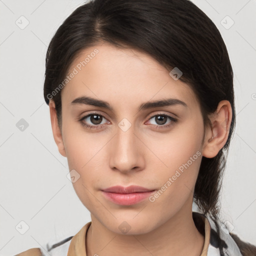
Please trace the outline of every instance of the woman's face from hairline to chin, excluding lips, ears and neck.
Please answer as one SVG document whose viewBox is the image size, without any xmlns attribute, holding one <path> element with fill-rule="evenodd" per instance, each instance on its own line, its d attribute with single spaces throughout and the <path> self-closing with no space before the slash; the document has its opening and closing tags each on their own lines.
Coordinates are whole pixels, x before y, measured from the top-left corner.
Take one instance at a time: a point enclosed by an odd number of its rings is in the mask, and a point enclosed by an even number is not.
<svg viewBox="0 0 256 256">
<path fill-rule="evenodd" d="M 169 71 L 147 54 L 104 43 L 84 49 L 67 72 L 75 75 L 61 91 L 58 148 L 91 218 L 113 232 L 128 223 L 133 234 L 146 233 L 191 210 L 203 119 L 192 89 Z M 83 96 L 109 107 L 72 103 Z M 184 104 L 145 104 L 170 98 Z M 155 191 L 124 205 L 102 192 L 115 185 Z"/>
</svg>

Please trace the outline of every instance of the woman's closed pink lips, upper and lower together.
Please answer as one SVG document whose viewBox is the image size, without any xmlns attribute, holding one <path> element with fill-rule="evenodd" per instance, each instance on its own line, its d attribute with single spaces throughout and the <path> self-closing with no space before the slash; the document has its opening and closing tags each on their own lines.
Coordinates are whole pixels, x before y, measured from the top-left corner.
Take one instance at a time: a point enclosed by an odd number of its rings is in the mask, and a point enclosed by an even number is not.
<svg viewBox="0 0 256 256">
<path fill-rule="evenodd" d="M 103 195 L 110 201 L 120 205 L 131 205 L 148 197 L 155 189 L 131 185 L 128 187 L 111 186 L 101 190 Z"/>
</svg>

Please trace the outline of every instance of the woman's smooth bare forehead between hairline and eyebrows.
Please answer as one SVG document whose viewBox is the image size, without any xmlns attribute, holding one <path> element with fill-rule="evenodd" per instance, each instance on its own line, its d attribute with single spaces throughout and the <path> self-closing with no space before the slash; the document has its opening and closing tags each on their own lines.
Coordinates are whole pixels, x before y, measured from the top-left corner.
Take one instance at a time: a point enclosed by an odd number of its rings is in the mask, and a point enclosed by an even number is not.
<svg viewBox="0 0 256 256">
<path fill-rule="evenodd" d="M 82 95 L 131 104 L 171 96 L 187 105 L 198 104 L 190 86 L 174 80 L 169 71 L 149 54 L 103 43 L 83 49 L 74 58 L 67 72 L 73 75 L 61 98 L 67 104 Z"/>
</svg>

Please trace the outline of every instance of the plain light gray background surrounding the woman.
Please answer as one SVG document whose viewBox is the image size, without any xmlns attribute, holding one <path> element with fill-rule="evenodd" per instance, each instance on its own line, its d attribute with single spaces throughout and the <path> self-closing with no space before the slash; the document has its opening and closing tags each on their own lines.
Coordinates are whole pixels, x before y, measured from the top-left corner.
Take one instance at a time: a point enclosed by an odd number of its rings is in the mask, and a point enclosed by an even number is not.
<svg viewBox="0 0 256 256">
<path fill-rule="evenodd" d="M 256 244 L 256 0 L 193 2 L 218 27 L 234 71 L 237 124 L 223 179 L 221 216 L 241 239 Z M 43 98 L 47 45 L 82 3 L 0 0 L 0 255 L 74 235 L 90 221 L 66 177 L 67 160 L 57 150 Z M 15 24 L 21 15 L 29 21 L 24 29 Z M 226 15 L 234 21 L 229 29 L 221 24 Z M 16 127 L 21 118 L 28 123 L 23 131 Z M 24 234 L 15 228 L 21 220 L 29 226 Z"/>
</svg>

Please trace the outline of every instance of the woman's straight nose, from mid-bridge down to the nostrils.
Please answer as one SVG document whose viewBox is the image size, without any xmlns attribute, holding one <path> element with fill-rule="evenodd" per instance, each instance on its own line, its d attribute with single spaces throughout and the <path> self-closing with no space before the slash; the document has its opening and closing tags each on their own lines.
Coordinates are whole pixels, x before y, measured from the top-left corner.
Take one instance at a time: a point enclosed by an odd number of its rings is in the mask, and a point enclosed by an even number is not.
<svg viewBox="0 0 256 256">
<path fill-rule="evenodd" d="M 126 131 L 117 127 L 115 136 L 111 139 L 109 146 L 109 166 L 113 170 L 122 173 L 144 169 L 145 159 L 143 152 L 145 145 L 142 138 L 131 125 Z"/>
</svg>

